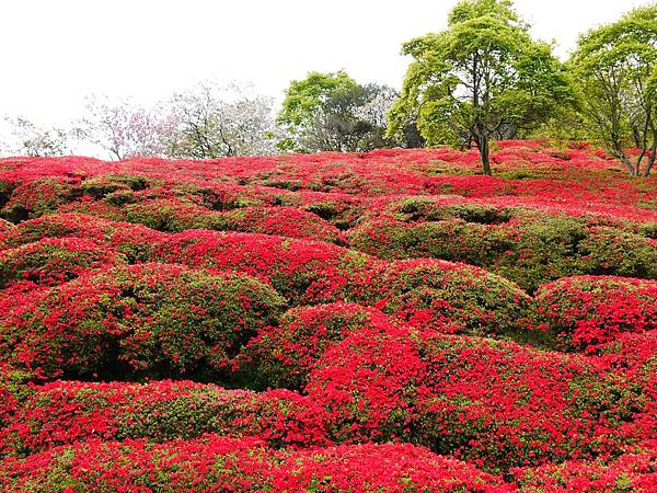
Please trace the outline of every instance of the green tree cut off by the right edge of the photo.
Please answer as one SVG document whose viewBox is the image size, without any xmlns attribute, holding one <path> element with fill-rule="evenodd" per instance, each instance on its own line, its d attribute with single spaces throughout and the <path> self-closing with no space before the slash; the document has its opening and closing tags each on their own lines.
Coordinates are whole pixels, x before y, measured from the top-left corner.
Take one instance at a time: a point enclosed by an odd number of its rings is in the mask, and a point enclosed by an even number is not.
<svg viewBox="0 0 657 493">
<path fill-rule="evenodd" d="M 657 150 L 657 5 L 580 36 L 568 66 L 592 135 L 630 174 L 647 176 Z"/>
</svg>

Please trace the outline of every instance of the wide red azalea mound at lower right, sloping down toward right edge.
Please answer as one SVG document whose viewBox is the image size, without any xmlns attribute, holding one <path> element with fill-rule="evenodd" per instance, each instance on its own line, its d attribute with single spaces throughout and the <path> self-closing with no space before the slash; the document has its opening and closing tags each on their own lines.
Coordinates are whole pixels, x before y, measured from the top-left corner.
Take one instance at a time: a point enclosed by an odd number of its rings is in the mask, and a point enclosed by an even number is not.
<svg viewBox="0 0 657 493">
<path fill-rule="evenodd" d="M 646 405 L 641 389 L 584 358 L 466 336 L 433 337 L 422 354 L 431 391 L 418 403 L 419 443 L 437 452 L 499 471 L 643 439 L 624 429 Z"/>
</svg>

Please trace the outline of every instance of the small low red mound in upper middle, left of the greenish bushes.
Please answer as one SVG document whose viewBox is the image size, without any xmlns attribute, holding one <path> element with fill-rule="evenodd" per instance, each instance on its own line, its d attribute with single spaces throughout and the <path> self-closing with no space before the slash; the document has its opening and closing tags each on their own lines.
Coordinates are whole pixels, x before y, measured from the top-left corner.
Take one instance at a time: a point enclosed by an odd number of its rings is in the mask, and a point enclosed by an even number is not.
<svg viewBox="0 0 657 493">
<path fill-rule="evenodd" d="M 297 207 L 245 207 L 221 214 L 215 229 L 335 242 L 339 230 Z"/>
</svg>

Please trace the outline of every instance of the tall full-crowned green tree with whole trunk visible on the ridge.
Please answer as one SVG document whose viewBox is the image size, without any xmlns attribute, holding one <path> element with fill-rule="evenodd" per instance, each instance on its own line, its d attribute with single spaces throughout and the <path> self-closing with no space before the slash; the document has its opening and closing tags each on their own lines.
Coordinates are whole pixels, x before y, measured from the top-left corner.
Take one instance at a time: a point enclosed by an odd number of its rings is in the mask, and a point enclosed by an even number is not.
<svg viewBox="0 0 657 493">
<path fill-rule="evenodd" d="M 471 146 L 491 174 L 489 142 L 545 122 L 574 101 L 551 46 L 531 39 L 508 0 L 461 1 L 448 28 L 403 45 L 414 61 L 390 112 L 389 136 L 410 121 L 427 145 Z"/>
</svg>

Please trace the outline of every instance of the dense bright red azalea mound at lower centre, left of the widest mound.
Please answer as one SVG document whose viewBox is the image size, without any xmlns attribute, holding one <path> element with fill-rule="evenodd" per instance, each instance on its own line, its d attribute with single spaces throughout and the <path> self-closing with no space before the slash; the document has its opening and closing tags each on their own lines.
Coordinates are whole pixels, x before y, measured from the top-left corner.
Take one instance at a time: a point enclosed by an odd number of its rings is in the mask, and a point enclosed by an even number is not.
<svg viewBox="0 0 657 493">
<path fill-rule="evenodd" d="M 324 408 L 335 442 L 411 442 L 426 364 L 406 328 L 360 330 L 331 346 L 309 376 L 306 391 Z"/>
</svg>

